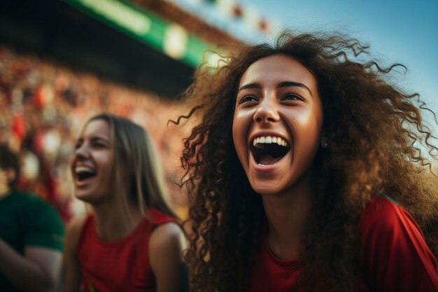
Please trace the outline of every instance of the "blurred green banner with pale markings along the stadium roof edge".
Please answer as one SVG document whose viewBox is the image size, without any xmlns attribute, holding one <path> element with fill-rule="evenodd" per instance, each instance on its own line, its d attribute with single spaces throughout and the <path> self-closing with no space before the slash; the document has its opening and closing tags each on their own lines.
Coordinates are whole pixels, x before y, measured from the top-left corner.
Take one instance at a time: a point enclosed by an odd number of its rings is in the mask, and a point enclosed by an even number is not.
<svg viewBox="0 0 438 292">
<path fill-rule="evenodd" d="M 191 67 L 203 61 L 206 50 L 215 48 L 183 27 L 123 0 L 61 0 L 101 22 L 146 43 Z"/>
</svg>

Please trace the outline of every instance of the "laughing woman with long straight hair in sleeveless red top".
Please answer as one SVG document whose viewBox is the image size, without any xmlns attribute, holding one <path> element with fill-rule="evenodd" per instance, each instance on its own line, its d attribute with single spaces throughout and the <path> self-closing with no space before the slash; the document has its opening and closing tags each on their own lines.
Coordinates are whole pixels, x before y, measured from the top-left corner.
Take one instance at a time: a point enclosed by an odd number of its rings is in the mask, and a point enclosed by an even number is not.
<svg viewBox="0 0 438 292">
<path fill-rule="evenodd" d="M 92 212 L 67 228 L 65 291 L 181 291 L 183 232 L 143 128 L 110 114 L 90 118 L 71 172 Z"/>
</svg>

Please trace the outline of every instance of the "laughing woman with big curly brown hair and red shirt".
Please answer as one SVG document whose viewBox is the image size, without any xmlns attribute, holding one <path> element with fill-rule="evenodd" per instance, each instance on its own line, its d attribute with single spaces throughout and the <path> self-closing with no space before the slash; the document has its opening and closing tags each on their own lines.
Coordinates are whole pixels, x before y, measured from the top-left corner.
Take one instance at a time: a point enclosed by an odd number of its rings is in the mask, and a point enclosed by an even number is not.
<svg viewBox="0 0 438 292">
<path fill-rule="evenodd" d="M 192 291 L 438 291 L 425 106 L 367 55 L 284 33 L 197 71 L 176 122 L 199 118 L 181 158 Z"/>
</svg>

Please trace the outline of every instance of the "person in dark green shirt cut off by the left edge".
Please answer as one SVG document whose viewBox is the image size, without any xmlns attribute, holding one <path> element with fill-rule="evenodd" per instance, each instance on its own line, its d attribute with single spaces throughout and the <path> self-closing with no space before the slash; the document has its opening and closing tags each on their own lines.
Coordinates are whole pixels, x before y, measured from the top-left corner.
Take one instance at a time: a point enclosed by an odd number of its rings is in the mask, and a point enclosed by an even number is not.
<svg viewBox="0 0 438 292">
<path fill-rule="evenodd" d="M 64 226 L 48 202 L 15 188 L 19 175 L 17 155 L 0 145 L 0 291 L 54 291 Z"/>
</svg>

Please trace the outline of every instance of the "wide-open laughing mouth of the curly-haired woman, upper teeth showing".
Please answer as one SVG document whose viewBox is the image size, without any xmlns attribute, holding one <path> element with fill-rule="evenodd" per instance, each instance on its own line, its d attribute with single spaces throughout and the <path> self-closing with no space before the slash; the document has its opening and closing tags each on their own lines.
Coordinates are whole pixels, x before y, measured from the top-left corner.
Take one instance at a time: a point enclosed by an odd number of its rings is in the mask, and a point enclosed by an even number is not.
<svg viewBox="0 0 438 292">
<path fill-rule="evenodd" d="M 283 158 L 290 149 L 288 141 L 281 137 L 257 137 L 250 146 L 250 151 L 257 165 L 273 165 Z"/>
</svg>

